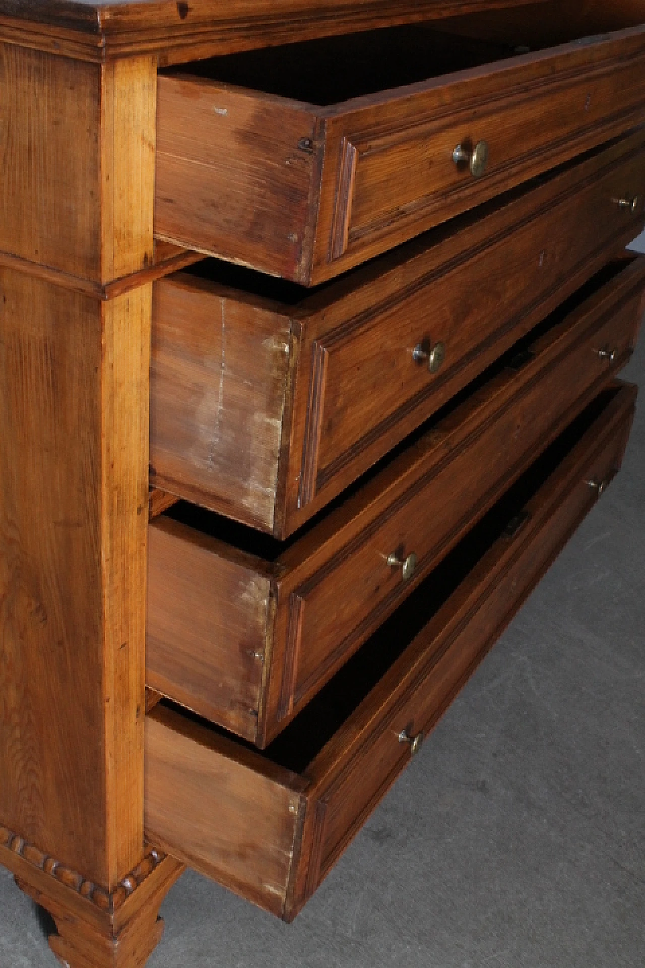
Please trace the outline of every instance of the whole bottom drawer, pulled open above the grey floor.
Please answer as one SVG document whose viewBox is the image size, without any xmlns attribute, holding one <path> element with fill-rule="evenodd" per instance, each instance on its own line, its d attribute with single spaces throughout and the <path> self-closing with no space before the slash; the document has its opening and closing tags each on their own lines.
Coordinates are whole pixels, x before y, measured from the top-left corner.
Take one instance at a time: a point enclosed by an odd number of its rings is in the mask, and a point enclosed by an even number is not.
<svg viewBox="0 0 645 968">
<path fill-rule="evenodd" d="M 149 841 L 294 918 L 618 470 L 635 396 L 603 391 L 264 752 L 152 711 Z"/>
</svg>

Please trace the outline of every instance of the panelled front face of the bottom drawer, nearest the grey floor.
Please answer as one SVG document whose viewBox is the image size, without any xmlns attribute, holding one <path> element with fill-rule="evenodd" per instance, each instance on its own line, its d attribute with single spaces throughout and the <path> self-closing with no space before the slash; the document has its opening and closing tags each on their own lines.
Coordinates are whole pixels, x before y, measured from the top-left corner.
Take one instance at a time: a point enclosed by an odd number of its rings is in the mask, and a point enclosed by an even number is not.
<svg viewBox="0 0 645 968">
<path fill-rule="evenodd" d="M 382 714 L 354 740 L 352 755 L 347 757 L 343 749 L 331 776 L 313 786 L 308 799 L 315 803 L 311 818 L 316 828 L 311 834 L 315 853 L 308 858 L 306 871 L 301 871 L 301 883 L 306 885 L 302 901 L 337 862 L 401 771 L 410 751 L 408 743 L 397 741 L 401 732 L 423 739 L 435 725 L 590 510 L 599 494 L 590 482 L 598 482 L 603 491 L 611 481 L 630 425 L 629 417 L 627 422 L 614 423 L 610 432 L 600 431 L 601 439 L 588 441 L 584 457 L 575 455 L 566 462 L 557 484 L 546 488 L 519 517 L 521 529 L 515 541 L 502 538 L 502 547 L 493 549 L 490 560 L 481 566 L 480 571 L 487 573 L 476 594 L 463 594 L 460 608 L 450 612 L 448 620 L 445 612 L 439 613 L 422 633 L 429 660 L 415 666 L 405 684 L 398 686 L 396 698 L 391 697 Z M 329 750 L 324 755 L 331 758 Z M 309 771 L 316 775 L 315 762 Z"/>
</svg>

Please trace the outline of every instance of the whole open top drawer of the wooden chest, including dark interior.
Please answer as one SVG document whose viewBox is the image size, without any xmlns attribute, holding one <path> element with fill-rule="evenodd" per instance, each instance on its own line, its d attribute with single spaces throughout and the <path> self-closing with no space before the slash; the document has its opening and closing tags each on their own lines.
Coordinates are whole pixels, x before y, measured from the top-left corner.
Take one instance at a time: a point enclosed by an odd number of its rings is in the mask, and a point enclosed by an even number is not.
<svg viewBox="0 0 645 968">
<path fill-rule="evenodd" d="M 158 236 L 312 286 L 643 123 L 645 0 L 539 8 L 160 76 Z"/>
</svg>

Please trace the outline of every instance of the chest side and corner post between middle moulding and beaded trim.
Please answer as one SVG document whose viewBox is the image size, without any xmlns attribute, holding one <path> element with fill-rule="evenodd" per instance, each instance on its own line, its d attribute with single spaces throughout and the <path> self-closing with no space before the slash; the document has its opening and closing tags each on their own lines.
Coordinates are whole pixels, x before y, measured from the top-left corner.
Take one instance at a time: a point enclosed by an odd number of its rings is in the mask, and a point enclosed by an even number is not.
<svg viewBox="0 0 645 968">
<path fill-rule="evenodd" d="M 143 843 L 150 290 L 0 288 L 0 816 L 109 889 Z"/>
</svg>

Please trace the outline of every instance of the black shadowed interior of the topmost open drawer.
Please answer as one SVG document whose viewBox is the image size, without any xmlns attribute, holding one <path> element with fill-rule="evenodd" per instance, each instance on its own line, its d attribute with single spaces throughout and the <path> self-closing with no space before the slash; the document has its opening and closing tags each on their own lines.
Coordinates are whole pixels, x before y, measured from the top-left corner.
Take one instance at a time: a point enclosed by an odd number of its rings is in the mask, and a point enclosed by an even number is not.
<svg viewBox="0 0 645 968">
<path fill-rule="evenodd" d="M 557 15 L 550 9 L 557 10 Z M 607 9 L 607 8 L 610 8 Z M 526 11 L 526 12 L 525 12 Z M 513 17 L 508 20 L 507 14 Z M 330 106 L 431 77 L 567 44 L 601 30 L 636 26 L 645 2 L 541 3 L 491 16 L 464 15 L 441 26 L 390 27 L 267 47 L 181 67 L 181 73 Z M 450 42 L 446 33 L 451 33 Z"/>
</svg>

